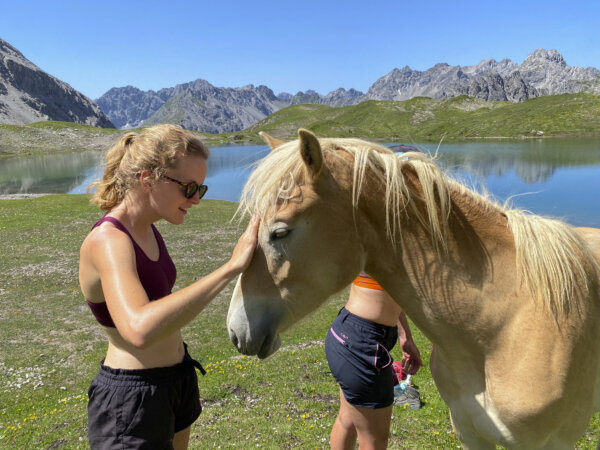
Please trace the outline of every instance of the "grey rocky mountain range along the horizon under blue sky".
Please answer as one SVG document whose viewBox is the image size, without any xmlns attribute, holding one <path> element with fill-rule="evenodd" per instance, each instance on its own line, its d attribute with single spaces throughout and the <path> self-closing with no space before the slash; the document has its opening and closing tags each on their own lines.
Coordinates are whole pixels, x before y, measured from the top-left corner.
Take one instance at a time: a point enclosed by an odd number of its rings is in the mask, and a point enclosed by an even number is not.
<svg viewBox="0 0 600 450">
<path fill-rule="evenodd" d="M 403 101 L 414 97 L 446 99 L 469 95 L 487 101 L 522 102 L 531 98 L 588 92 L 600 94 L 600 70 L 572 67 L 556 50 L 538 49 L 522 64 L 509 59 L 473 66 L 439 63 L 425 71 L 393 69 L 366 93 L 337 89 L 275 94 L 267 86 L 215 87 L 206 80 L 158 91 L 115 87 L 95 102 L 45 73 L 0 39 L 0 123 L 43 120 L 121 129 L 175 123 L 209 133 L 235 132 L 291 105 L 356 105 L 366 100 Z"/>
</svg>

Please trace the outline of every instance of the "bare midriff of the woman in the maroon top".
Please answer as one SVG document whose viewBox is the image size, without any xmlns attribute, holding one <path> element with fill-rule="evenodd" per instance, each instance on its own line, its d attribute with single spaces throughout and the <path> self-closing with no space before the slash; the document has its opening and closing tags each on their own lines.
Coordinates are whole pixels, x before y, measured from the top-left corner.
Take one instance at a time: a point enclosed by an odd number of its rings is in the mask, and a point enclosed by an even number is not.
<svg viewBox="0 0 600 450">
<path fill-rule="evenodd" d="M 125 341 L 116 328 L 102 327 L 108 335 L 108 350 L 104 365 L 114 369 L 151 369 L 169 367 L 183 361 L 181 332 L 158 340 L 146 348 L 137 348 Z"/>
</svg>

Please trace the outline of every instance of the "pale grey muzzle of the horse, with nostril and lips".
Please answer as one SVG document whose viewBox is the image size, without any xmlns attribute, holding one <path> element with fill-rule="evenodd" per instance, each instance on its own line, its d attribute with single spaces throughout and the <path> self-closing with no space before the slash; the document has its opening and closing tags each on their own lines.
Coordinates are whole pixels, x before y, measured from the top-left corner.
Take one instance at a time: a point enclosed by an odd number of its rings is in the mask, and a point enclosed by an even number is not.
<svg viewBox="0 0 600 450">
<path fill-rule="evenodd" d="M 280 320 L 281 312 L 277 308 L 269 308 L 264 299 L 244 299 L 240 275 L 227 312 L 229 339 L 238 352 L 256 355 L 260 359 L 275 353 L 281 346 L 277 330 Z"/>
</svg>

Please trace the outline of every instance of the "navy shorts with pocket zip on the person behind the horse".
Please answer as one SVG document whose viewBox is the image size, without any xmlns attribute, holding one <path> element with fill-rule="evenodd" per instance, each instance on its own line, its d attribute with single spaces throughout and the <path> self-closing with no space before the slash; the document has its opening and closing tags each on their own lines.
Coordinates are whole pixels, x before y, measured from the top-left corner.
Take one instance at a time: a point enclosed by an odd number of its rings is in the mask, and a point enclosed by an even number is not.
<svg viewBox="0 0 600 450">
<path fill-rule="evenodd" d="M 325 339 L 329 369 L 348 403 L 385 408 L 394 403 L 390 351 L 398 327 L 380 325 L 342 308 Z"/>
</svg>

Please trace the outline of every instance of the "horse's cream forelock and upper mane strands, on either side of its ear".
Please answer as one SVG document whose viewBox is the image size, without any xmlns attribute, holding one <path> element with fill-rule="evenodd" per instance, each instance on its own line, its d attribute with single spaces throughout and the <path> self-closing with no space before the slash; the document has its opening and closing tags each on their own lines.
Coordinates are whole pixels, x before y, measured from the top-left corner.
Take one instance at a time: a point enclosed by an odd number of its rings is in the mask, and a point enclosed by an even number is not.
<svg viewBox="0 0 600 450">
<path fill-rule="evenodd" d="M 446 185 L 441 181 L 441 170 L 433 164 L 433 158 L 419 152 L 408 152 L 398 156 L 388 147 L 354 138 L 320 138 L 323 155 L 337 158 L 340 164 L 353 164 L 352 201 L 356 207 L 360 198 L 367 169 L 385 181 L 387 204 L 386 231 L 395 243 L 400 235 L 400 219 L 405 208 L 412 212 L 429 231 L 436 247 L 445 249 L 445 235 L 449 214 L 450 198 Z M 353 156 L 349 162 L 340 156 L 342 150 Z M 426 202 L 425 214 L 416 207 L 412 192 L 402 175 L 402 168 L 410 166 L 422 183 L 423 195 L 431 198 Z M 298 154 L 298 141 L 285 143 L 261 161 L 244 186 L 238 214 L 257 211 L 264 215 L 271 205 L 285 205 L 294 195 L 297 186 L 305 182 L 305 170 Z M 439 204 L 435 203 L 435 199 Z M 439 206 L 439 208 L 438 208 Z M 439 210 L 438 210 L 439 209 Z"/>
</svg>

